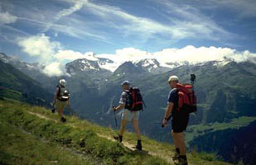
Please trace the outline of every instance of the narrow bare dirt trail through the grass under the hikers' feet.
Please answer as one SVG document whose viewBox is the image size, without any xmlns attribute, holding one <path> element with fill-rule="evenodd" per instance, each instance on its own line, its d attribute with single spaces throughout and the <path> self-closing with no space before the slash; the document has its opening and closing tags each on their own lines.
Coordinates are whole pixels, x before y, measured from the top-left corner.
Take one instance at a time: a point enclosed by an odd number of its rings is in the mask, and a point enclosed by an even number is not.
<svg viewBox="0 0 256 165">
<path fill-rule="evenodd" d="M 36 112 L 32 112 L 32 111 L 28 111 L 29 114 L 31 115 L 36 115 L 37 117 L 41 118 L 41 119 L 44 119 L 44 120 L 52 120 L 54 121 L 55 123 L 57 122 L 60 122 L 59 120 L 56 120 L 56 119 L 52 119 L 46 115 L 42 115 L 40 113 L 36 113 Z M 77 126 L 75 125 L 72 125 L 70 123 L 65 123 L 65 125 L 70 125 L 72 126 L 73 128 L 77 128 Z M 112 136 L 109 136 L 109 135 L 106 135 L 106 134 L 100 134 L 100 133 L 97 133 L 97 135 L 101 138 L 105 138 L 105 139 L 109 139 L 111 141 L 116 141 Z M 123 140 L 122 142 L 123 146 L 125 146 L 126 148 L 130 149 L 130 150 L 133 150 L 135 151 L 136 149 L 134 148 L 134 144 L 129 144 L 127 141 Z M 142 152 L 145 152 L 145 153 L 148 153 L 152 156 L 156 156 L 156 157 L 159 157 L 159 158 L 162 158 L 162 159 L 165 159 L 167 161 L 167 163 L 171 163 L 171 164 L 175 164 L 173 162 L 173 160 L 171 159 L 171 155 L 170 154 L 165 154 L 163 153 L 162 151 L 158 151 L 157 149 L 155 149 L 154 151 L 142 151 Z"/>
</svg>

